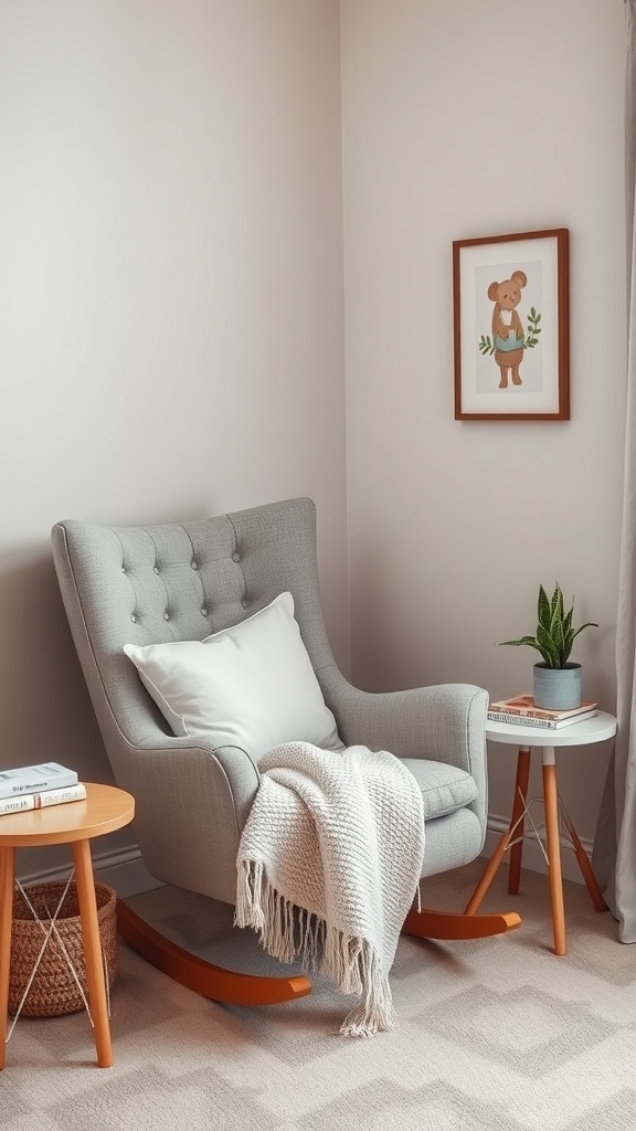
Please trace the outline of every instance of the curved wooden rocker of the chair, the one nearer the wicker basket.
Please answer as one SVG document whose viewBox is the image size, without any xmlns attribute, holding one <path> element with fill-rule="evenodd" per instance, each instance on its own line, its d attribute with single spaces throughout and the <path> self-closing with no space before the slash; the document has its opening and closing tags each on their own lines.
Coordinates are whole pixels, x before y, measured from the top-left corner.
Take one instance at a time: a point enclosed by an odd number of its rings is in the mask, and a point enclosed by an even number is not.
<svg viewBox="0 0 636 1131">
<path fill-rule="evenodd" d="M 207 962 L 165 939 L 121 900 L 117 905 L 117 929 L 121 938 L 153 966 L 212 1001 L 232 1005 L 274 1005 L 311 993 L 311 982 L 304 976 L 258 977 Z"/>
</svg>

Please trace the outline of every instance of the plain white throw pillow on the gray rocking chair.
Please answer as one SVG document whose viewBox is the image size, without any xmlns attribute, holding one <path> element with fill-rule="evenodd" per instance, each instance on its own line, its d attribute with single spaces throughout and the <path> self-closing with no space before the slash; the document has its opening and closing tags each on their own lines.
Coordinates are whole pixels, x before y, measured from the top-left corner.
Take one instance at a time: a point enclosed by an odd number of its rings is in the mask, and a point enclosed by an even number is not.
<svg viewBox="0 0 636 1131">
<path fill-rule="evenodd" d="M 281 742 L 342 746 L 291 593 L 205 640 L 123 650 L 177 735 L 241 746 L 253 758 Z"/>
</svg>

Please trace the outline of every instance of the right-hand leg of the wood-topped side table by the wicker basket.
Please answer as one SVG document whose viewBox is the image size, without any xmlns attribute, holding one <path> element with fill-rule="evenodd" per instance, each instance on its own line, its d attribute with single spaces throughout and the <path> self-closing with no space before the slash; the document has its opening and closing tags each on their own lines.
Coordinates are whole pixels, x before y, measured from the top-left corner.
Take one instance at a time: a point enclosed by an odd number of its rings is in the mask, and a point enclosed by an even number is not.
<svg viewBox="0 0 636 1131">
<path fill-rule="evenodd" d="M 91 843 L 76 840 L 72 846 L 75 877 L 81 920 L 81 938 L 84 942 L 84 961 L 86 964 L 86 984 L 88 1002 L 93 1016 L 93 1031 L 97 1064 L 110 1068 L 113 1062 L 106 986 L 102 966 L 102 943 L 100 939 L 100 922 L 97 920 L 97 901 L 93 880 L 93 862 L 91 860 Z"/>
</svg>

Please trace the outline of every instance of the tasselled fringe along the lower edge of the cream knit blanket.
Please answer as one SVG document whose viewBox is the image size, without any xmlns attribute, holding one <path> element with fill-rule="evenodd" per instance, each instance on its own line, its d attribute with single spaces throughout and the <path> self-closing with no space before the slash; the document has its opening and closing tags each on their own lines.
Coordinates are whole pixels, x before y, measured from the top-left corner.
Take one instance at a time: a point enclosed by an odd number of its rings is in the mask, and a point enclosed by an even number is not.
<svg viewBox="0 0 636 1131">
<path fill-rule="evenodd" d="M 371 944 L 282 896 L 260 861 L 239 864 L 234 923 L 253 927 L 263 948 L 281 962 L 301 958 L 307 969 L 327 975 L 342 993 L 362 995 L 341 1026 L 343 1036 L 371 1037 L 394 1028 L 388 976 Z"/>
</svg>

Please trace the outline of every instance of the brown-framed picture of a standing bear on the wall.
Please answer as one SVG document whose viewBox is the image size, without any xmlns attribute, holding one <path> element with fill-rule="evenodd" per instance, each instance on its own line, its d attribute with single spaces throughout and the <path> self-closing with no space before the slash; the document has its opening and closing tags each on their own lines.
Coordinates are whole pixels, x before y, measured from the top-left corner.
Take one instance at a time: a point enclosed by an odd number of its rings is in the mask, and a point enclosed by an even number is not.
<svg viewBox="0 0 636 1131">
<path fill-rule="evenodd" d="M 569 420 L 569 232 L 453 243 L 455 420 Z"/>
</svg>

